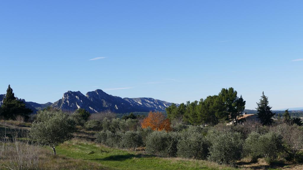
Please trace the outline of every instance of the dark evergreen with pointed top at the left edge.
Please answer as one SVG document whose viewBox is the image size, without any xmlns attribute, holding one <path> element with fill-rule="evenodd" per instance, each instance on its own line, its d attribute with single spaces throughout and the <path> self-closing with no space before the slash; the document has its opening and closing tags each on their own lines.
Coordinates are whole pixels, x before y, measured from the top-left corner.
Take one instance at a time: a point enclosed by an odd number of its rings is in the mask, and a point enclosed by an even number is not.
<svg viewBox="0 0 303 170">
<path fill-rule="evenodd" d="M 16 116 L 20 115 L 25 119 L 28 119 L 32 112 L 31 109 L 26 108 L 25 103 L 16 100 L 13 89 L 8 85 L 3 104 L 0 108 L 0 117 L 3 117 L 4 119 L 15 119 Z"/>
</svg>

